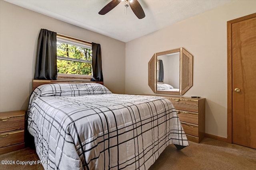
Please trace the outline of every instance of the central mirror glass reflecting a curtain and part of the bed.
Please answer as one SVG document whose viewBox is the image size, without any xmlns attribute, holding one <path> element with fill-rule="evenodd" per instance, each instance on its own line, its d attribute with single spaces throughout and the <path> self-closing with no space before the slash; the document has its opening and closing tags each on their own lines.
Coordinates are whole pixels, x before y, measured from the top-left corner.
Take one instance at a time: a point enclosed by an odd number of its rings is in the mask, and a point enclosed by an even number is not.
<svg viewBox="0 0 256 170">
<path fill-rule="evenodd" d="M 180 52 L 157 56 L 157 90 L 180 91 Z"/>
</svg>

